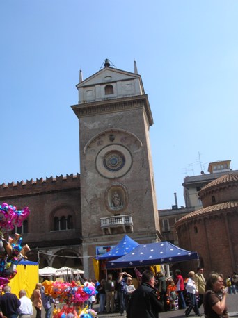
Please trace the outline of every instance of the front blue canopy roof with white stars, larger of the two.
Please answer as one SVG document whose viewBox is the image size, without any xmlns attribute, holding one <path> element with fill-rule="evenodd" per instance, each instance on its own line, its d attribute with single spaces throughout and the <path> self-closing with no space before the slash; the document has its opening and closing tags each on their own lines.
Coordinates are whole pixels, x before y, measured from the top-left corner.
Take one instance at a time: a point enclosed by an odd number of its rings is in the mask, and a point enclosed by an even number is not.
<svg viewBox="0 0 238 318">
<path fill-rule="evenodd" d="M 106 269 L 164 265 L 199 260 L 198 253 L 181 249 L 170 242 L 140 244 L 125 256 L 106 262 Z"/>
</svg>

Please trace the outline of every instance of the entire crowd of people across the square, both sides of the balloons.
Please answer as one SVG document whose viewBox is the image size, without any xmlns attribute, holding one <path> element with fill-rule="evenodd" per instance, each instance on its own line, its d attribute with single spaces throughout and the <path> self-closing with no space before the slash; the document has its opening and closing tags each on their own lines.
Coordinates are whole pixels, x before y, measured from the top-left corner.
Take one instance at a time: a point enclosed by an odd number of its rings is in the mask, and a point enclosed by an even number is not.
<svg viewBox="0 0 238 318">
<path fill-rule="evenodd" d="M 189 271 L 185 279 L 179 269 L 170 277 L 164 276 L 162 272 L 154 276 L 150 270 L 139 275 L 137 271 L 136 275 L 136 287 L 132 275 L 126 271 L 120 272 L 114 281 L 111 274 L 100 282 L 84 278 L 84 286 L 93 285 L 98 292 L 90 296 L 84 305 L 93 308 L 94 303 L 99 303 L 98 315 L 118 311 L 127 318 L 155 318 L 159 317 L 159 312 L 179 308 L 184 309 L 186 317 L 192 310 L 200 317 L 200 306 L 203 304 L 206 318 L 228 318 L 226 295 L 237 292 L 236 273 L 225 279 L 222 274 L 212 272 L 205 280 L 201 267 L 196 273 Z M 26 290 L 20 290 L 19 299 L 6 285 L 3 291 L 0 287 L 0 318 L 30 318 L 33 307 L 36 318 L 41 318 L 42 307 L 45 309 L 45 318 L 50 318 L 54 302 L 54 298 L 45 294 L 41 283 L 36 284 L 31 298 L 26 296 Z"/>
</svg>

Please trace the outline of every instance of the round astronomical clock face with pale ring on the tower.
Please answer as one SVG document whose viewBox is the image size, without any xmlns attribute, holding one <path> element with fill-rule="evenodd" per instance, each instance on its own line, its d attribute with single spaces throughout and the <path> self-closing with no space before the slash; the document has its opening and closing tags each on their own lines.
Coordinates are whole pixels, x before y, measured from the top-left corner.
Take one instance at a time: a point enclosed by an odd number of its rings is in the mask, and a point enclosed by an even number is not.
<svg viewBox="0 0 238 318">
<path fill-rule="evenodd" d="M 113 144 L 100 150 L 95 163 L 97 171 L 105 178 L 119 178 L 132 167 L 132 155 L 126 147 Z"/>
</svg>

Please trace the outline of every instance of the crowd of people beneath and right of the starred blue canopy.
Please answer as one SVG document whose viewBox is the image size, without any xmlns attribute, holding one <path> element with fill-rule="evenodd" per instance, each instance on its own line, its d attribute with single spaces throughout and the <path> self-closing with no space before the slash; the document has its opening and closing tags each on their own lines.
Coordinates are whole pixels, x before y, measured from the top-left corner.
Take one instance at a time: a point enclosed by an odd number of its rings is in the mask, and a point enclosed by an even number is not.
<svg viewBox="0 0 238 318">
<path fill-rule="evenodd" d="M 236 273 L 232 275 L 231 281 L 234 285 L 238 281 Z M 144 271 L 138 288 L 134 287 L 132 276 L 125 271 L 119 273 L 115 281 L 109 274 L 107 279 L 100 281 L 97 290 L 99 315 L 115 312 L 118 307 L 120 315 L 127 315 L 127 318 L 158 317 L 159 312 L 177 309 L 184 309 L 185 317 L 189 317 L 191 312 L 200 317 L 200 306 L 203 304 L 206 318 L 228 317 L 225 299 L 229 286 L 222 274 L 216 272 L 210 273 L 205 280 L 202 267 L 198 267 L 196 272 L 189 271 L 186 278 L 179 269 L 170 277 L 164 276 L 162 272 L 154 276 L 151 271 Z M 232 290 L 236 292 L 235 288 Z"/>
</svg>

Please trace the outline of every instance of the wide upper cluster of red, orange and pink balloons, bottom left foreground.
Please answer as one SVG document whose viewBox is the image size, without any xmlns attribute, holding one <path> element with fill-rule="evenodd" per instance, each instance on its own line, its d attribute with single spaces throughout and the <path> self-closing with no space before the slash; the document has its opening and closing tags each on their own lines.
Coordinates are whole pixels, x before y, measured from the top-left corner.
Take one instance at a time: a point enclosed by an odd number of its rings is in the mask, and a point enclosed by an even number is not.
<svg viewBox="0 0 238 318">
<path fill-rule="evenodd" d="M 42 285 L 45 288 L 45 294 L 58 299 L 60 303 L 67 303 L 68 305 L 76 303 L 84 303 L 90 296 L 97 294 L 94 286 L 84 287 L 77 285 L 75 281 L 65 283 L 63 281 L 47 281 L 45 280 Z"/>
</svg>

